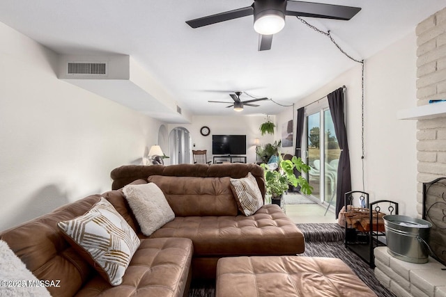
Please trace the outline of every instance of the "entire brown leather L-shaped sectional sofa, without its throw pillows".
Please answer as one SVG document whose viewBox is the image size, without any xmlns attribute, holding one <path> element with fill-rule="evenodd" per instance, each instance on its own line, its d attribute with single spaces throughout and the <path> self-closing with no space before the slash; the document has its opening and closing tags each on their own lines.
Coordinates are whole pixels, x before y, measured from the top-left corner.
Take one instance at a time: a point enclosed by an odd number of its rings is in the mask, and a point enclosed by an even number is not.
<svg viewBox="0 0 446 297">
<path fill-rule="evenodd" d="M 295 255 L 305 249 L 302 232 L 277 205 L 264 205 L 252 216 L 240 214 L 229 179 L 248 172 L 256 177 L 264 198 L 263 169 L 255 164 L 121 166 L 112 171 L 112 191 L 0 232 L 0 239 L 39 280 L 60 280 L 60 287 L 48 288 L 52 296 L 187 296 L 191 278 L 215 278 L 221 257 Z M 120 189 L 148 181 L 162 189 L 175 218 L 147 238 Z M 100 197 L 111 202 L 141 238 L 117 287 L 87 264 L 56 227 L 89 211 Z"/>
</svg>

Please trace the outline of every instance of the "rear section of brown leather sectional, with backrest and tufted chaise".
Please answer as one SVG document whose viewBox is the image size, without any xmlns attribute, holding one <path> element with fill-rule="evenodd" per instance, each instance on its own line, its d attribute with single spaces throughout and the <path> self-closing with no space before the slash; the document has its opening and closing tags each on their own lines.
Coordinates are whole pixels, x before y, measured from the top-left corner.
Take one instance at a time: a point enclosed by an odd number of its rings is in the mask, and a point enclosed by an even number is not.
<svg viewBox="0 0 446 297">
<path fill-rule="evenodd" d="M 302 232 L 277 205 L 266 204 L 253 216 L 240 214 L 229 179 L 248 172 L 265 198 L 263 169 L 253 163 L 121 166 L 111 177 L 113 189 L 135 180 L 155 182 L 176 217 L 150 238 L 192 239 L 193 278 L 215 278 L 220 257 L 295 255 L 305 250 Z"/>
</svg>

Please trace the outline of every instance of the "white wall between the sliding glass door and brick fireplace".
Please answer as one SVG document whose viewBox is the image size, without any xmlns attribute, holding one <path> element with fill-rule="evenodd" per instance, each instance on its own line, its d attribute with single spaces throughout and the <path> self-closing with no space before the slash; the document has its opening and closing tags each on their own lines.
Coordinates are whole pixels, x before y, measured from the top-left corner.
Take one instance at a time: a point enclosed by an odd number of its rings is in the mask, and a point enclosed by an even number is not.
<svg viewBox="0 0 446 297">
<path fill-rule="evenodd" d="M 408 216 L 417 214 L 416 125 L 396 115 L 416 105 L 416 58 L 415 33 L 410 33 L 365 61 L 365 191 L 371 201 L 399 202 L 400 214 Z M 352 188 L 362 190 L 360 64 L 296 102 L 295 109 L 344 85 Z M 284 116 L 288 113 L 277 118 Z"/>
</svg>

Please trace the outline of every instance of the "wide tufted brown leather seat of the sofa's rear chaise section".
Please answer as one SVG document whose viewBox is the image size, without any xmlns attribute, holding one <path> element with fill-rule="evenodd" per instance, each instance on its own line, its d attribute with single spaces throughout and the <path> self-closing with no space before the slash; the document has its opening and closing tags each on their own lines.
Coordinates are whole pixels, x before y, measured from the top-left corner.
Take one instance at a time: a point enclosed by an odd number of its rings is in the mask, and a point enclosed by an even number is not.
<svg viewBox="0 0 446 297">
<path fill-rule="evenodd" d="M 304 235 L 275 204 L 252 216 L 176 217 L 151 238 L 185 237 L 194 242 L 194 257 L 295 255 L 305 250 Z"/>
</svg>

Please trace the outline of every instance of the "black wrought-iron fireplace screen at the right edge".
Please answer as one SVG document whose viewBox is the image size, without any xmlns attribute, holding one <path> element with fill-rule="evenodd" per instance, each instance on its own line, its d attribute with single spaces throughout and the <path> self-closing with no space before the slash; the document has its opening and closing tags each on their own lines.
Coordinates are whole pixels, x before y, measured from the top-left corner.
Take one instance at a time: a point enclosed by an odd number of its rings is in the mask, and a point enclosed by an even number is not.
<svg viewBox="0 0 446 297">
<path fill-rule="evenodd" d="M 423 183 L 422 218 L 432 224 L 431 257 L 446 266 L 446 177 Z"/>
</svg>

